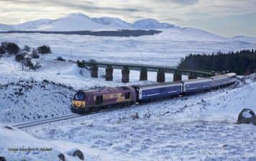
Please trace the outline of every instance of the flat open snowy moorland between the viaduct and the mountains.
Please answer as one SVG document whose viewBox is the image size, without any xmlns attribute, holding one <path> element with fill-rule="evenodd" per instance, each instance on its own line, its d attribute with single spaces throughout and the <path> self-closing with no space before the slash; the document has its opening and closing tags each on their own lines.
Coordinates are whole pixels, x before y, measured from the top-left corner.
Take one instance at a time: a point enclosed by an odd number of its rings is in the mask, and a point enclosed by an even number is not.
<svg viewBox="0 0 256 161">
<path fill-rule="evenodd" d="M 220 37 L 199 29 L 162 29 L 157 35 L 142 37 L 96 37 L 88 35 L 1 34 L 0 42 L 19 46 L 50 45 L 53 54 L 72 60 L 112 61 L 178 65 L 190 53 L 211 53 L 256 48 L 252 42 Z"/>
</svg>

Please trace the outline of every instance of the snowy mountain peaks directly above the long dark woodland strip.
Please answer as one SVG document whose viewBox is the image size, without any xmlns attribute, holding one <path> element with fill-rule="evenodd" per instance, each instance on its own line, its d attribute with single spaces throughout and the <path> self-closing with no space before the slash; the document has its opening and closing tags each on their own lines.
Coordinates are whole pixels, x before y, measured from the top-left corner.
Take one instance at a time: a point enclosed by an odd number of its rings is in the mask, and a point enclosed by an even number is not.
<svg viewBox="0 0 256 161">
<path fill-rule="evenodd" d="M 33 30 L 33 31 L 78 31 L 106 29 L 167 29 L 173 24 L 160 23 L 156 19 L 141 19 L 133 24 L 115 17 L 88 17 L 85 14 L 68 14 L 59 19 L 38 19 L 22 24 L 0 24 L 0 31 Z"/>
</svg>

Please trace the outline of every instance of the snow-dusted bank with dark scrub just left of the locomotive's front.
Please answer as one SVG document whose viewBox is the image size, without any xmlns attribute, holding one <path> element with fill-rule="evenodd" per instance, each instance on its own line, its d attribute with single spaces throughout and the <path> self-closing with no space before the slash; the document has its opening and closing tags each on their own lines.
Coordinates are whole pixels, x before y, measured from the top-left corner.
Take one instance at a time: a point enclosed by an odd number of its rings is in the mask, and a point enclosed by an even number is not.
<svg viewBox="0 0 256 161">
<path fill-rule="evenodd" d="M 71 114 L 75 91 L 47 80 L 0 83 L 0 122 L 22 122 Z"/>
</svg>

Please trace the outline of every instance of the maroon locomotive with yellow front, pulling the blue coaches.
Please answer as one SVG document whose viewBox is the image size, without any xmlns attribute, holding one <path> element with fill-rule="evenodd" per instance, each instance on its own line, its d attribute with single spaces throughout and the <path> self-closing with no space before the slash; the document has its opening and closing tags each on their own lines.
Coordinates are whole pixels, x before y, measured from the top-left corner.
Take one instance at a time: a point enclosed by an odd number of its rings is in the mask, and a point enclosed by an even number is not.
<svg viewBox="0 0 256 161">
<path fill-rule="evenodd" d="M 72 110 L 77 113 L 97 111 L 104 106 L 132 105 L 136 102 L 136 91 L 130 86 L 78 91 L 72 101 Z"/>
</svg>

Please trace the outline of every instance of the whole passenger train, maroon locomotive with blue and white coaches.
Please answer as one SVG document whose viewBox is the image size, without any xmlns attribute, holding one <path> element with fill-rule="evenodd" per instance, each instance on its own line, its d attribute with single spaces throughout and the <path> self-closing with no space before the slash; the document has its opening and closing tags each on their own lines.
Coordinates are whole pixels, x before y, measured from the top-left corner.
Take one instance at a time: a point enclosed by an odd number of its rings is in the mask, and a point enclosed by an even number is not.
<svg viewBox="0 0 256 161">
<path fill-rule="evenodd" d="M 177 82 L 153 83 L 147 85 L 120 86 L 93 90 L 80 90 L 73 97 L 71 110 L 83 114 L 100 109 L 132 106 L 165 98 L 191 95 L 235 83 L 236 73 L 215 75 Z"/>
</svg>

